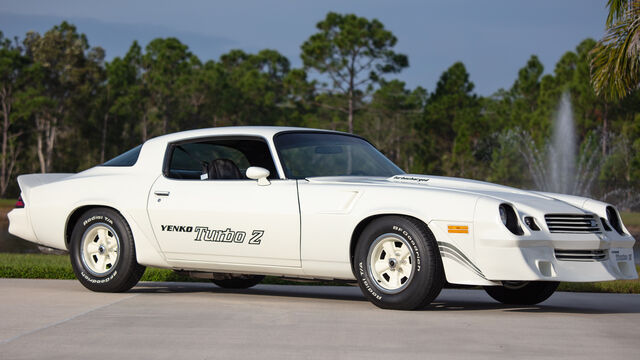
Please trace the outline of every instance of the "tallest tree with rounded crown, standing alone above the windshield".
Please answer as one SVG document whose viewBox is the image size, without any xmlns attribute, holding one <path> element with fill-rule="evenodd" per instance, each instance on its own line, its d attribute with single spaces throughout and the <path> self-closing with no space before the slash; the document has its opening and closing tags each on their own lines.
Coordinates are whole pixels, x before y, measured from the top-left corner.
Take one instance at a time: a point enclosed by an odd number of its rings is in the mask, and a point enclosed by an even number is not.
<svg viewBox="0 0 640 360">
<path fill-rule="evenodd" d="M 387 73 L 397 73 L 409 66 L 406 55 L 393 51 L 396 37 L 376 20 L 354 14 L 327 14 L 312 35 L 302 44 L 305 68 L 327 75 L 333 90 L 346 97 L 347 128 L 353 133 L 353 113 L 357 91 L 368 91 Z"/>
</svg>

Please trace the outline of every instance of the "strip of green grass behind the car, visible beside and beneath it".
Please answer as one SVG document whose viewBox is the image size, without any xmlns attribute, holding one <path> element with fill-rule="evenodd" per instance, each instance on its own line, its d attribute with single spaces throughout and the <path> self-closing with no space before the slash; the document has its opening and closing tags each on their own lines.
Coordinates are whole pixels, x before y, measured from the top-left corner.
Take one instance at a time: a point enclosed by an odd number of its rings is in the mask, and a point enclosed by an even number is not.
<svg viewBox="0 0 640 360">
<path fill-rule="evenodd" d="M 640 266 L 636 266 L 640 272 Z M 0 277 L 24 279 L 75 279 L 67 255 L 0 253 Z M 141 281 L 208 281 L 178 275 L 171 270 L 147 268 Z M 267 276 L 264 284 L 295 285 L 297 282 Z M 314 285 L 343 285 L 316 282 Z M 640 280 L 619 280 L 596 283 L 562 283 L 560 291 L 607 292 L 640 294 Z"/>
</svg>

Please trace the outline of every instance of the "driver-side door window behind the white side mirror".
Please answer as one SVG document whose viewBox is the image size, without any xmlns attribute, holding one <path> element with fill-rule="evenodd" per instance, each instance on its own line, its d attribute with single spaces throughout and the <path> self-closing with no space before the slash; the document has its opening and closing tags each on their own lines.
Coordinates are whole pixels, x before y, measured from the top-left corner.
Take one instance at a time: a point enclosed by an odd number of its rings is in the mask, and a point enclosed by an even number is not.
<svg viewBox="0 0 640 360">
<path fill-rule="evenodd" d="M 262 139 L 217 138 L 169 144 L 165 176 L 188 180 L 245 180 L 251 166 L 277 173 L 267 143 Z"/>
</svg>

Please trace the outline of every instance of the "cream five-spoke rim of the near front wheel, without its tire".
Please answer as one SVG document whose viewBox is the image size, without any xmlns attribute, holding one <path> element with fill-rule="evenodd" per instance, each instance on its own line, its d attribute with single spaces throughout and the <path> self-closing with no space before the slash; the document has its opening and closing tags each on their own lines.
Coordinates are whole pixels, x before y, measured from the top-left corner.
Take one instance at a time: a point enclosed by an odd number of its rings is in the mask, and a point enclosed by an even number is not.
<svg viewBox="0 0 640 360">
<path fill-rule="evenodd" d="M 415 272 L 413 249 L 400 235 L 382 234 L 369 247 L 367 265 L 380 291 L 398 293 L 409 285 Z"/>
</svg>

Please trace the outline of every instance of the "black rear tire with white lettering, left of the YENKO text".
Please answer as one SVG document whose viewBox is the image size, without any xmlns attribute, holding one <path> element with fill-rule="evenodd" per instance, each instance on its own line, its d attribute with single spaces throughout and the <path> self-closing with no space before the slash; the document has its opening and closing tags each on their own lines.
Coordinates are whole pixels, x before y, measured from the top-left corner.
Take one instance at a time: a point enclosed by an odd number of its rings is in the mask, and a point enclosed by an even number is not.
<svg viewBox="0 0 640 360">
<path fill-rule="evenodd" d="M 91 266 L 98 266 L 98 260 L 92 263 L 92 259 L 97 259 L 95 257 L 97 254 L 87 255 L 83 260 L 85 235 L 89 239 L 94 229 L 96 229 L 95 231 L 106 229 L 107 237 L 110 241 L 118 243 L 117 250 L 114 251 L 117 254 L 115 257 L 117 260 L 104 260 L 108 267 L 104 272 L 96 272 L 95 269 L 91 268 Z M 96 246 L 103 248 L 99 255 L 103 256 L 105 253 L 104 247 L 100 245 L 103 240 L 100 239 L 99 235 L 96 235 L 94 240 L 87 240 L 87 242 L 95 242 Z M 89 251 L 86 251 L 86 253 L 89 254 Z M 94 208 L 80 216 L 73 227 L 69 254 L 71 266 L 76 277 L 84 287 L 92 291 L 127 291 L 138 283 L 145 271 L 145 267 L 136 261 L 136 249 L 129 225 L 122 215 L 108 208 Z M 109 261 L 112 261 L 112 263 L 108 263 Z"/>
</svg>

